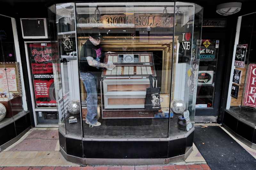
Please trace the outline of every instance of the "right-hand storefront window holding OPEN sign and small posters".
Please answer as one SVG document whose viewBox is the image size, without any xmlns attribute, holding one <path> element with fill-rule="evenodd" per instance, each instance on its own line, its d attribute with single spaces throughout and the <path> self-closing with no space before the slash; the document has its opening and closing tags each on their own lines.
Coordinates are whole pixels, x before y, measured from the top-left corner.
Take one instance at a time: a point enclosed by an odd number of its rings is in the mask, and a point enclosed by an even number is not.
<svg viewBox="0 0 256 170">
<path fill-rule="evenodd" d="M 252 33 L 255 31 L 255 13 L 239 17 L 239 34 L 236 35 L 234 65 L 230 77 L 230 105 L 232 114 L 255 127 L 255 45 Z"/>
</svg>

